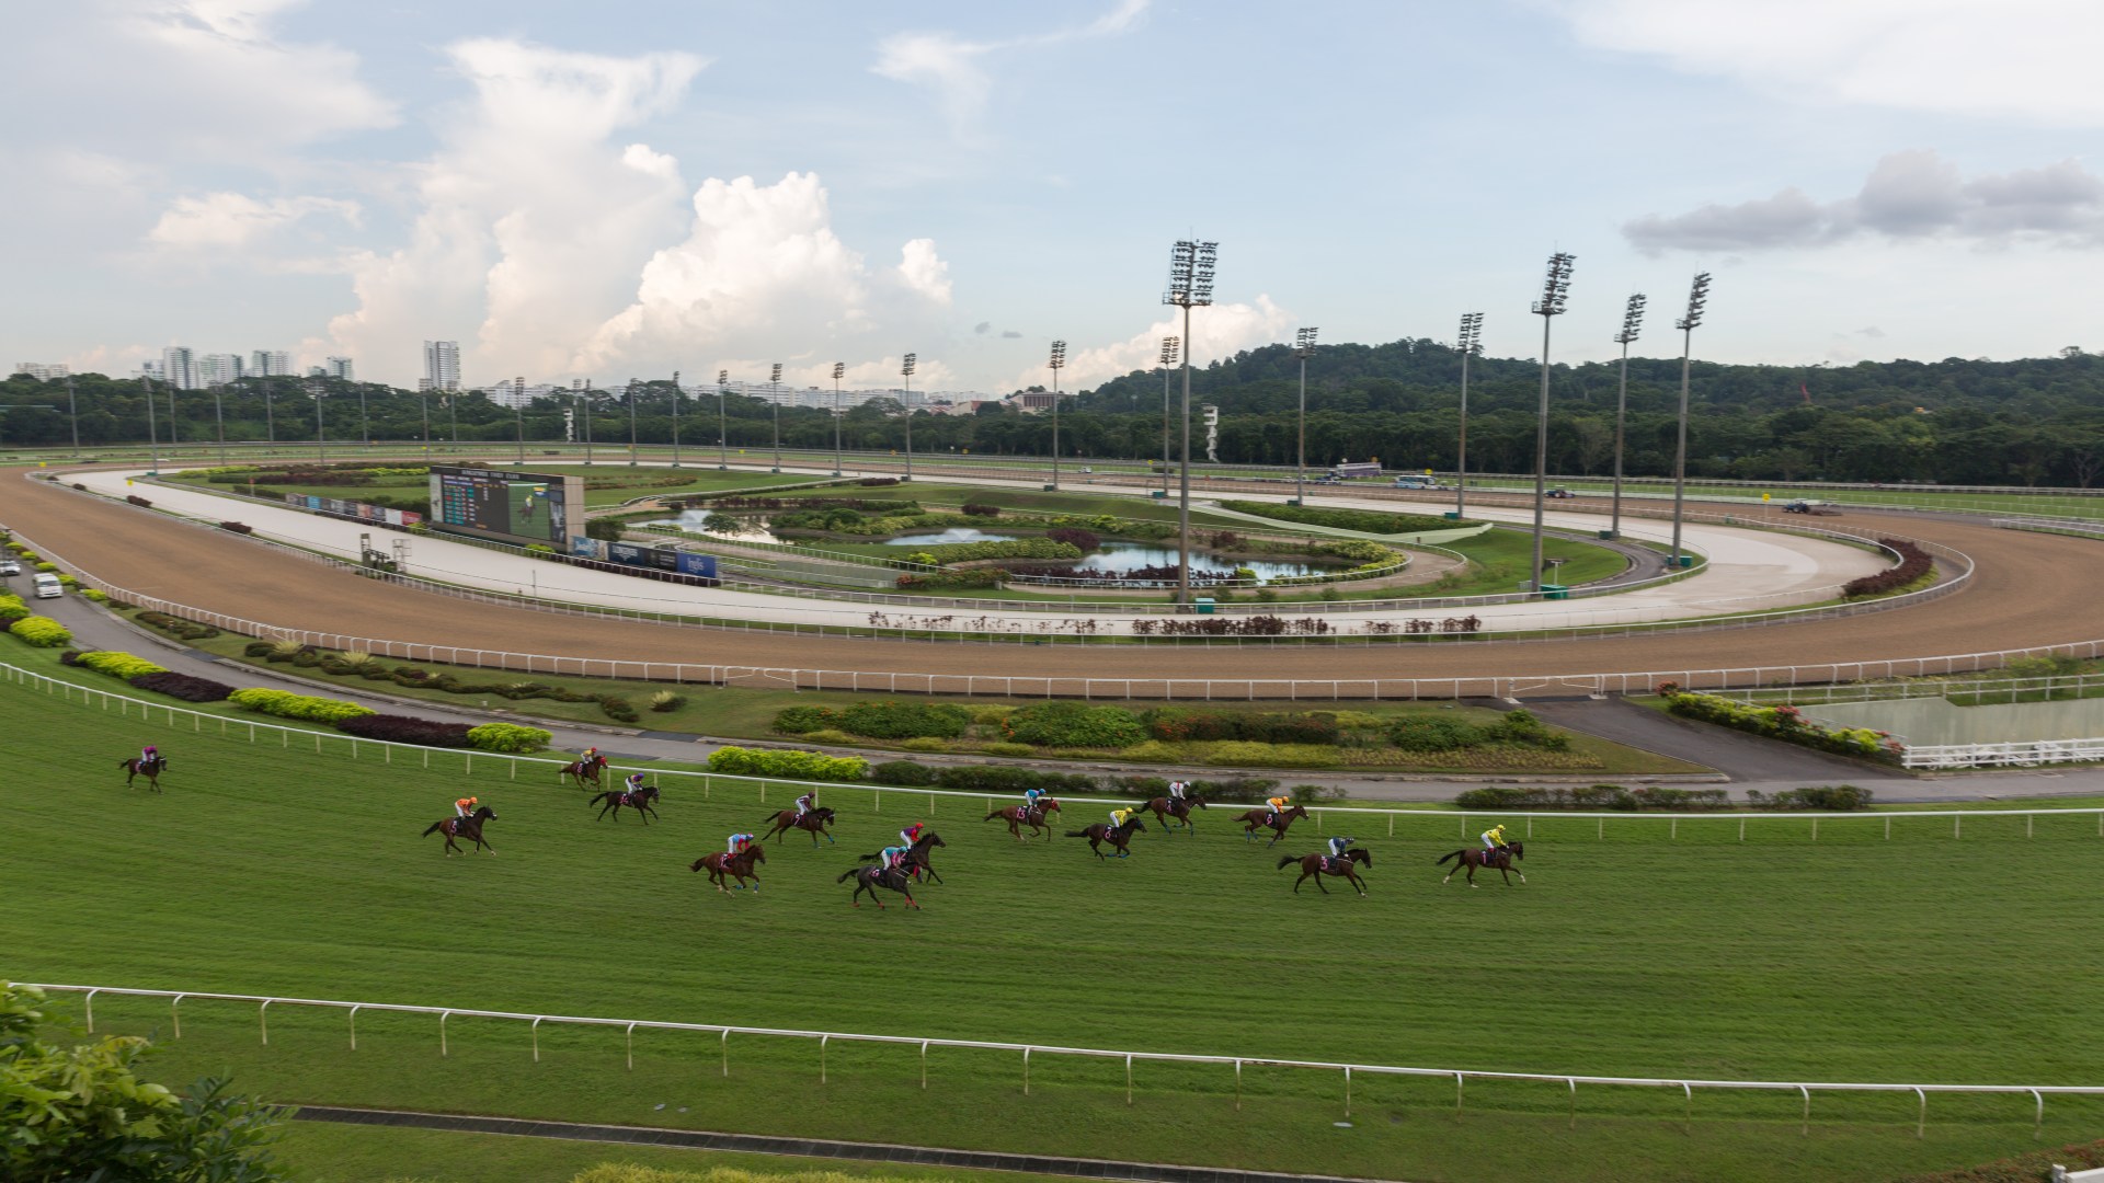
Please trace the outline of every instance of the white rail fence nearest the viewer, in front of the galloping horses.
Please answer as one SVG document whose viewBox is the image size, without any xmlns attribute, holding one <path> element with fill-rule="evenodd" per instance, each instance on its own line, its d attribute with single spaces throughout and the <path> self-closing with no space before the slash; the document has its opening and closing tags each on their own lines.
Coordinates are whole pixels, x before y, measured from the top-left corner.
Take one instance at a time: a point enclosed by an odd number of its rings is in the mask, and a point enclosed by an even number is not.
<svg viewBox="0 0 2104 1183">
<path fill-rule="evenodd" d="M 1134 1090 L 1134 1065 L 1138 1063 L 1197 1063 L 1197 1065 L 1218 1065 L 1233 1067 L 1235 1071 L 1235 1107 L 1241 1109 L 1241 1074 L 1246 1067 L 1288 1067 L 1288 1069 L 1309 1069 L 1309 1071 L 1334 1071 L 1342 1076 L 1344 1084 L 1344 1116 L 1351 1116 L 1351 1078 L 1357 1076 L 1408 1076 L 1408 1078 L 1435 1078 L 1454 1082 L 1454 1111 L 1462 1111 L 1466 1082 L 1538 1082 L 1538 1084 L 1563 1084 L 1570 1090 L 1570 1126 L 1578 1128 L 1578 1086 L 1620 1086 L 1620 1088 L 1679 1088 L 1685 1103 L 1685 1120 L 1694 1120 L 1694 1090 L 1767 1090 L 1767 1092 L 1797 1092 L 1803 1099 L 1803 1132 L 1812 1132 L 1812 1095 L 1814 1092 L 1913 1092 L 1919 1109 L 1915 1120 L 1915 1137 L 1925 1137 L 1929 1124 L 1929 1092 L 1944 1095 L 2028 1095 L 2035 1103 L 2032 1109 L 2032 1135 L 2045 1126 L 2045 1099 L 2047 1097 L 2104 1097 L 2104 1086 L 2093 1084 L 1866 1084 L 1866 1082 L 1835 1082 L 1835 1080 L 1696 1080 L 1696 1078 L 1641 1078 L 1641 1076 L 1589 1076 L 1589 1074 L 1542 1074 L 1542 1071 L 1479 1071 L 1479 1069 L 1454 1069 L 1454 1067 L 1399 1067 L 1399 1065 L 1374 1065 L 1374 1063 L 1338 1063 L 1338 1061 L 1309 1061 L 1309 1059 L 1273 1059 L 1273 1057 L 1222 1057 L 1222 1055 L 1182 1055 L 1182 1052 L 1134 1052 L 1117 1048 L 1071 1048 L 1056 1044 L 1010 1044 L 1010 1042 L 985 1042 L 985 1040 L 947 1040 L 947 1038 L 917 1038 L 917 1036 L 869 1036 L 861 1031 L 802 1031 L 791 1027 L 741 1027 L 730 1023 L 669 1023 L 654 1019 L 600 1019 L 583 1015 L 532 1015 L 524 1010 L 473 1010 L 461 1006 L 412 1006 L 402 1002 L 343 1002 L 330 998 L 282 998 L 267 994 L 217 994 L 217 991 L 196 991 L 196 989 L 133 989 L 133 987 L 112 987 L 112 985 L 57 985 L 57 983 L 25 983 L 36 985 L 46 991 L 61 994 L 84 994 L 86 1027 L 95 1031 L 95 996 L 112 994 L 122 998 L 166 998 L 168 1017 L 175 1029 L 175 1038 L 183 1038 L 183 1000 L 198 1002 L 252 1002 L 257 1004 L 257 1034 L 263 1046 L 269 1046 L 269 1008 L 271 1006 L 311 1006 L 324 1010 L 345 1010 L 349 1019 L 349 1050 L 358 1050 L 358 1012 L 377 1010 L 393 1015 L 429 1015 L 438 1019 L 438 1055 L 450 1055 L 450 1042 L 446 1031 L 448 1019 L 503 1019 L 513 1023 L 528 1023 L 532 1031 L 532 1059 L 541 1061 L 541 1025 L 574 1025 L 574 1027 L 621 1027 L 625 1031 L 625 1055 L 629 1071 L 635 1069 L 635 1031 L 694 1031 L 694 1034 L 715 1034 L 722 1048 L 722 1074 L 730 1076 L 730 1036 L 760 1036 L 760 1038 L 787 1038 L 787 1040 L 818 1040 L 818 1082 L 827 1080 L 827 1046 L 833 1042 L 842 1044 L 890 1044 L 919 1048 L 919 1084 L 928 1088 L 928 1048 L 966 1048 L 966 1050 L 989 1050 L 989 1052 L 1016 1052 L 1023 1063 L 1023 1095 L 1031 1092 L 1031 1055 L 1037 1057 L 1088 1057 L 1088 1059 L 1109 1059 L 1126 1063 L 1126 1103 L 1132 1103 Z"/>
</svg>

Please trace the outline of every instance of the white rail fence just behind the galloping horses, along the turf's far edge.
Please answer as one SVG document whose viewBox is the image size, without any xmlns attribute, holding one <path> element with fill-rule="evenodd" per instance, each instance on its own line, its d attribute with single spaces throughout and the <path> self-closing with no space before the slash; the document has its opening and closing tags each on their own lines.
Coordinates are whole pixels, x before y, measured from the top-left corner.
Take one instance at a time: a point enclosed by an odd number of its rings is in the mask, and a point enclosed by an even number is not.
<svg viewBox="0 0 2104 1183">
<path fill-rule="evenodd" d="M 246 733 L 248 743 L 267 741 L 271 735 L 276 735 L 278 737 L 278 745 L 282 749 L 290 749 L 292 747 L 292 739 L 299 737 L 301 747 L 305 747 L 309 741 L 313 743 L 316 756 L 326 756 L 332 749 L 328 745 L 343 745 L 343 747 L 335 747 L 335 751 L 347 751 L 351 760 L 366 758 L 364 751 L 370 749 L 370 751 L 379 751 L 379 758 L 381 758 L 383 764 L 393 764 L 393 758 L 402 756 L 404 760 L 417 760 L 423 768 L 431 768 L 431 756 L 438 756 L 442 770 L 446 768 L 448 758 L 457 756 L 457 758 L 461 758 L 461 775 L 473 777 L 473 775 L 478 775 L 476 773 L 476 764 L 482 764 L 484 773 L 490 773 L 492 768 L 497 768 L 497 770 L 503 773 L 503 777 L 507 781 L 518 781 L 522 766 L 528 768 L 528 777 L 539 775 L 539 777 L 545 779 L 549 773 L 555 773 L 558 768 L 562 768 L 564 764 L 568 764 L 566 756 L 515 756 L 515 754 L 509 754 L 509 751 L 473 751 L 473 749 L 467 749 L 467 747 L 425 747 L 425 745 L 419 745 L 419 743 L 396 743 L 391 739 L 362 739 L 362 737 L 343 735 L 343 733 L 337 733 L 337 730 L 313 730 L 313 728 L 301 728 L 301 726 L 284 726 L 284 724 L 259 722 L 259 720 L 248 720 L 248 718 L 238 718 L 238 716 L 194 711 L 194 709 L 187 709 L 187 707 L 170 707 L 170 705 L 164 705 L 164 703 L 149 703 L 145 699 L 135 699 L 130 695 L 116 695 L 112 690 L 103 690 L 103 688 L 97 688 L 97 686 L 84 686 L 80 682 L 67 682 L 63 678 L 50 678 L 48 674 L 38 674 L 34 669 L 23 669 L 23 667 L 11 665 L 11 663 L 0 663 L 0 678 L 4 678 L 11 684 L 17 684 L 17 686 L 29 686 L 32 690 L 42 690 L 44 695 L 61 695 L 69 703 L 78 695 L 78 703 L 82 707 L 95 707 L 95 705 L 99 705 L 103 711 L 107 711 L 112 707 L 112 703 L 114 703 L 118 707 L 118 714 L 124 716 L 124 718 L 128 718 L 130 714 L 137 711 L 141 720 L 151 722 L 158 716 L 158 718 L 164 718 L 168 722 L 168 726 L 177 726 L 177 720 L 189 720 L 191 733 L 198 733 L 198 735 L 202 735 L 206 730 L 206 724 L 213 724 L 219 735 Z M 166 743 L 168 741 L 162 741 L 162 745 L 166 745 Z M 635 764 L 635 762 L 614 762 L 610 766 L 616 768 L 616 770 L 638 770 L 638 773 L 644 773 L 648 777 L 654 777 L 661 783 L 663 781 L 673 781 L 673 783 L 699 785 L 703 800 L 713 800 L 713 791 L 715 791 L 717 785 L 730 785 L 730 787 L 751 787 L 751 789 L 755 789 L 755 796 L 757 796 L 760 804 L 768 804 L 768 789 L 770 787 L 776 789 L 774 804 L 787 804 L 787 802 L 795 800 L 795 796 L 800 796 L 804 791 L 810 791 L 810 789 L 818 789 L 823 794 L 829 794 L 833 800 L 839 800 L 842 794 L 869 794 L 869 808 L 871 808 L 871 813 L 884 813 L 884 796 L 890 794 L 894 800 L 905 800 L 909 806 L 915 804 L 915 802 L 924 804 L 928 817 L 936 815 L 936 806 L 943 800 L 980 802 L 980 804 L 985 804 L 985 808 L 989 813 L 995 806 L 1016 804 L 1014 796 L 989 794 L 985 789 L 924 789 L 924 787 L 917 787 L 917 785 L 877 785 L 877 783 L 867 783 L 867 781 L 795 781 L 795 779 L 789 779 L 789 777 L 743 777 L 743 775 L 732 775 L 732 773 L 694 773 L 694 770 L 686 770 L 686 768 L 661 768 L 656 764 Z M 1222 777 L 1233 777 L 1235 773 L 1222 770 L 1220 775 Z M 1088 804 L 1102 804 L 1102 806 L 1142 804 L 1136 798 L 1119 798 L 1119 796 L 1107 796 L 1107 794 L 1088 794 L 1086 798 L 1071 798 L 1071 800 L 1077 800 L 1077 802 L 1086 800 Z M 1235 802 L 1235 804 L 1241 804 L 1241 802 Z M 1315 821 L 1317 834 L 1326 831 L 1328 825 L 1338 823 L 1338 821 L 1342 821 L 1342 823 L 1349 825 L 1349 823 L 1355 823 L 1355 821 L 1387 819 L 1389 838 L 1395 838 L 1395 821 L 1397 819 L 1429 823 L 1435 829 L 1448 829 L 1452 825 L 1452 827 L 1456 827 L 1456 838 L 1460 838 L 1460 840 L 1473 840 L 1475 836 L 1471 834 L 1471 829 L 1477 823 L 1483 823 L 1488 819 L 1496 819 L 1496 821 L 1517 819 L 1517 821 L 1521 821 L 1523 827 L 1525 827 L 1523 838 L 1534 838 L 1534 823 L 1536 821 L 1561 819 L 1561 821 L 1593 821 L 1595 823 L 1595 838 L 1601 838 L 1601 840 L 1607 838 L 1607 821 L 1635 821 L 1635 823 L 1645 823 L 1645 825 L 1652 825 L 1652 827 L 1656 827 L 1656 825 L 1662 823 L 1664 829 L 1666 829 L 1666 840 L 1671 840 L 1671 842 L 1679 840 L 1679 836 L 1681 836 L 1681 823 L 1683 821 L 1690 821 L 1690 823 L 1694 823 L 1694 821 L 1736 821 L 1738 823 L 1738 840 L 1740 842 L 1746 840 L 1746 823 L 1748 821 L 1799 821 L 1799 823 L 1809 823 L 1812 842 L 1818 842 L 1818 838 L 1820 838 L 1820 821 L 1841 823 L 1841 825 L 1852 825 L 1852 823 L 1860 823 L 1860 825 L 1883 823 L 1883 838 L 1891 840 L 1891 823 L 1894 823 L 1894 819 L 1925 819 L 1925 817 L 1936 817 L 1936 819 L 1944 819 L 1946 817 L 1946 819 L 1950 819 L 1950 836 L 1953 838 L 1965 838 L 1965 819 L 1967 817 L 1971 817 L 1971 819 L 2016 819 L 2016 817 L 2022 817 L 2024 819 L 2024 838 L 2035 838 L 2037 836 L 2037 819 L 2039 817 L 2091 817 L 2098 823 L 2098 838 L 2104 838 L 2104 806 L 2096 806 L 2096 808 L 1942 808 L 1942 810 L 1929 808 L 1929 810 L 1904 810 L 1904 813 L 1818 813 L 1818 810 L 1765 810 L 1765 813 L 1736 813 L 1736 810 L 1700 810 L 1700 813 L 1664 813 L 1664 810 L 1656 810 L 1656 813 L 1654 810 L 1645 810 L 1645 813 L 1633 813 L 1633 810 L 1605 810 L 1605 813 L 1593 813 L 1593 810 L 1473 810 L 1471 813 L 1471 810 L 1445 810 L 1445 808 L 1376 808 L 1376 806 L 1319 806 L 1319 804 L 1302 806 L 1302 808 L 1307 808 L 1309 817 Z M 1077 810 L 1086 810 L 1086 806 L 1077 806 Z M 1231 815 L 1227 815 L 1227 813 L 1222 815 L 1220 821 L 1225 825 L 1233 825 Z"/>
</svg>

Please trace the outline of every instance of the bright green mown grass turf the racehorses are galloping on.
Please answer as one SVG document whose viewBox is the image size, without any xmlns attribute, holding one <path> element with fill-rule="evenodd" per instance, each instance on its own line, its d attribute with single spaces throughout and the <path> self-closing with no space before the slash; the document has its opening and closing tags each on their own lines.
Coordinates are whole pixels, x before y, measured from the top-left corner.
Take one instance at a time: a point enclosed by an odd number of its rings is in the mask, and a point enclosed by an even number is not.
<svg viewBox="0 0 2104 1183">
<path fill-rule="evenodd" d="M 122 789 L 141 743 L 177 760 L 166 796 Z M 1536 823 L 1528 886 L 1439 886 L 1452 817 L 1370 838 L 1372 897 L 1290 895 L 1277 857 L 1229 834 L 1149 834 L 1124 863 L 1086 844 L 1025 848 L 964 802 L 930 819 L 947 886 L 928 911 L 850 911 L 833 882 L 903 821 L 856 804 L 839 846 L 781 844 L 757 897 L 686 871 L 766 808 L 745 791 L 671 794 L 648 829 L 595 823 L 581 794 L 433 768 L 316 758 L 170 735 L 0 690 L 0 758 L 48 775 L 0 787 L 0 975 L 242 994 L 419 1002 L 1170 1052 L 1355 1059 L 1626 1076 L 2093 1082 L 2081 973 L 2104 920 L 2093 819 Z M 446 764 L 448 758 L 433 758 Z M 107 770 L 103 768 L 107 764 Z M 488 762 L 492 764 L 492 762 Z M 417 834 L 459 789 L 494 804 L 497 857 L 444 859 Z M 839 794 L 848 798 L 848 794 Z M 734 798 L 734 800 L 724 800 Z M 835 802 L 846 804 L 846 800 Z M 1079 827 L 1094 810 L 1077 806 Z M 1437 829 L 1437 836 L 1433 834 Z M 1307 834 L 1286 848 L 1315 844 Z M 2060 973 L 2062 968 L 2070 973 Z M 231 1067 L 280 1099 L 808 1132 L 936 1145 L 1132 1156 L 1376 1177 L 1860 1179 L 1995 1158 L 2028 1143 L 2030 1101 L 1934 1099 L 1929 1139 L 1906 1099 L 1340 1080 L 1037 1057 L 1020 1097 L 1010 1055 L 829 1050 L 610 1031 L 450 1025 L 274 1008 L 271 1046 L 244 1006 L 185 1004 L 166 1076 Z M 97 1000 L 103 1025 L 156 1029 L 166 1006 Z M 654 1109 L 667 1103 L 669 1109 Z M 690 1105 L 688 1116 L 673 1116 Z M 2096 1137 L 2104 1105 L 2051 1101 L 2047 1137 Z M 1225 1139 L 1229 1122 L 1248 1137 Z M 1145 1137 L 1138 1137 L 1145 1130 Z M 1574 1158 L 1576 1156 L 1576 1158 Z"/>
</svg>

